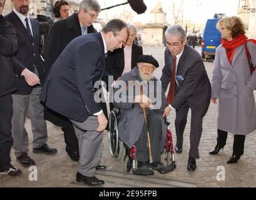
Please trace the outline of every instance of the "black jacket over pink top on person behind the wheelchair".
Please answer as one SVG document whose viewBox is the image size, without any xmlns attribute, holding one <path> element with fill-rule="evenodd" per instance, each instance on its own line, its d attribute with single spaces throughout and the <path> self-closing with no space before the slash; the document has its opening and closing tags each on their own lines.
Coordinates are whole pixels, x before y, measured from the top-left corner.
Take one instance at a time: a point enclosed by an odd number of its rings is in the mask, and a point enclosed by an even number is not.
<svg viewBox="0 0 256 200">
<path fill-rule="evenodd" d="M 137 66 L 138 58 L 142 54 L 142 47 L 137 44 L 133 44 L 131 47 L 131 69 Z M 108 73 L 108 75 L 114 76 L 114 80 L 116 80 L 123 74 L 124 68 L 125 54 L 123 48 L 115 49 L 115 51 L 108 53 L 108 57 L 106 59 L 106 73 Z"/>
</svg>

